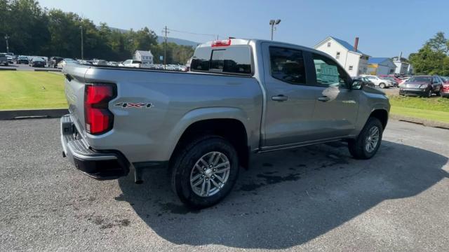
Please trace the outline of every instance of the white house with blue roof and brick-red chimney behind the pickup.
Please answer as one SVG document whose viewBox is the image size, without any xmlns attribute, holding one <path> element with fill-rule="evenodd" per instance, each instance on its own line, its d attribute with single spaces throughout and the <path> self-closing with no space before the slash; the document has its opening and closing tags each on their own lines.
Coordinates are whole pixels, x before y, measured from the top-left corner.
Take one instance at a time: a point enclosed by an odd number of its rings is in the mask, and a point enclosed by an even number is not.
<svg viewBox="0 0 449 252">
<path fill-rule="evenodd" d="M 356 43 L 351 45 L 332 36 L 328 36 L 314 46 L 316 50 L 326 52 L 336 59 L 350 76 L 368 73 L 368 59 L 370 56 L 358 50 L 357 47 L 358 38 L 356 38 Z"/>
</svg>

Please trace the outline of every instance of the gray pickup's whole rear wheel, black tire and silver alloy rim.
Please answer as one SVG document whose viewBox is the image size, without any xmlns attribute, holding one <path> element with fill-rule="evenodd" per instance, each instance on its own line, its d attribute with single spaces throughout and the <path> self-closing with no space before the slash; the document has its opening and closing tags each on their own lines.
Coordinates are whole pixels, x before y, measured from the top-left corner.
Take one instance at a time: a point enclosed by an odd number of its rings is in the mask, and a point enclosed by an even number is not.
<svg viewBox="0 0 449 252">
<path fill-rule="evenodd" d="M 187 207 L 203 209 L 223 200 L 239 174 L 239 158 L 232 144 L 219 136 L 187 144 L 173 160 L 171 184 Z"/>
</svg>

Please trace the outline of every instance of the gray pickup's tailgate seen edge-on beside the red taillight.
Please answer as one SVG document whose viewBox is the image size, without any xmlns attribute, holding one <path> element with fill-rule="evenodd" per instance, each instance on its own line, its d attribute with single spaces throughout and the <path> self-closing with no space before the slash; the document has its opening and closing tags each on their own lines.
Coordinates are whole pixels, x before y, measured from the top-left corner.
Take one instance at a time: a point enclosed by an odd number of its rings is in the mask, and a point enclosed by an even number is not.
<svg viewBox="0 0 449 252">
<path fill-rule="evenodd" d="M 70 116 L 79 132 L 84 132 L 84 75 L 91 66 L 67 64 L 62 69 L 65 74 L 65 97 Z"/>
</svg>

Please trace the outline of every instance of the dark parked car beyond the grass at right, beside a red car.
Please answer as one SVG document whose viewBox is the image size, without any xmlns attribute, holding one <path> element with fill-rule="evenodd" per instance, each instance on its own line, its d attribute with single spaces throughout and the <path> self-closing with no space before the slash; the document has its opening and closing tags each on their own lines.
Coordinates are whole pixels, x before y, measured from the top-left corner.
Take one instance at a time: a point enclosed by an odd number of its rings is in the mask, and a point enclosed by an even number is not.
<svg viewBox="0 0 449 252">
<path fill-rule="evenodd" d="M 441 94 L 443 80 L 439 76 L 413 76 L 403 83 L 399 89 L 401 95 L 431 97 L 432 94 Z"/>
</svg>

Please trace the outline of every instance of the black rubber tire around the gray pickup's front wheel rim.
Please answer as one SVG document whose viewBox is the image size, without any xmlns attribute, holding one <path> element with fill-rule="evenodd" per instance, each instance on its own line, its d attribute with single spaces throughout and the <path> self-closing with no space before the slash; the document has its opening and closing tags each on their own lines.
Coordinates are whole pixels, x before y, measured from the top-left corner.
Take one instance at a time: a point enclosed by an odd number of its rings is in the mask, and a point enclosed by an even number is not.
<svg viewBox="0 0 449 252">
<path fill-rule="evenodd" d="M 377 127 L 377 130 L 379 130 L 379 138 L 377 141 L 377 144 L 373 151 L 367 151 L 366 150 L 366 144 L 368 141 L 368 137 L 370 134 L 370 130 L 373 127 Z M 370 117 L 368 118 L 368 121 L 366 122 L 365 126 L 363 127 L 363 130 L 358 134 L 358 137 L 356 139 L 351 139 L 348 141 L 348 148 L 349 153 L 355 158 L 355 159 L 362 159 L 367 160 L 370 158 L 373 158 L 373 156 L 377 153 L 377 150 L 380 147 L 380 144 L 382 143 L 382 133 L 384 129 L 382 127 L 382 123 L 380 123 L 380 120 L 377 118 Z"/>
</svg>

